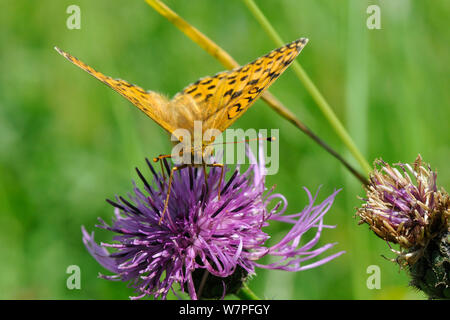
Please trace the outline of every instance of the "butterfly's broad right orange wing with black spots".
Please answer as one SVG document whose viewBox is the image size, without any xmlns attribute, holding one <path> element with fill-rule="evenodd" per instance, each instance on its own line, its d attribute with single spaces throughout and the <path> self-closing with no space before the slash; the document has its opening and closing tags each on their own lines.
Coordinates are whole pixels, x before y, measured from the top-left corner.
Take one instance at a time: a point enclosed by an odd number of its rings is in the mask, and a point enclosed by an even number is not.
<svg viewBox="0 0 450 320">
<path fill-rule="evenodd" d="M 195 100 L 202 110 L 198 120 L 204 128 L 224 131 L 278 79 L 307 42 L 306 38 L 298 39 L 245 66 L 202 78 L 177 96 L 189 95 Z"/>
</svg>

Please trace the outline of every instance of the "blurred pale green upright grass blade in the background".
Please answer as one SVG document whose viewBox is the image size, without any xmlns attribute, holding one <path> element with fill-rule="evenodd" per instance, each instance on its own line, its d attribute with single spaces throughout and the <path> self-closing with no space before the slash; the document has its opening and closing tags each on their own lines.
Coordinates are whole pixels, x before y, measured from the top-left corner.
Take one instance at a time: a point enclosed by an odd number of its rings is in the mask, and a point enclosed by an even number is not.
<svg viewBox="0 0 450 320">
<path fill-rule="evenodd" d="M 367 7 L 366 1 L 349 0 L 348 6 L 348 26 L 347 26 L 347 79 L 346 79 L 346 119 L 349 133 L 352 134 L 358 145 L 364 151 L 367 148 L 367 109 L 368 109 L 368 61 L 369 46 L 368 34 L 365 20 L 360 19 Z M 347 210 L 352 211 L 355 207 L 355 194 L 361 194 L 361 187 L 350 181 L 348 175 L 345 176 L 347 187 Z M 348 238 L 352 243 L 350 259 L 357 259 L 359 266 L 351 265 L 349 286 L 353 288 L 355 296 L 359 299 L 374 299 L 374 290 L 367 290 L 365 278 L 366 273 L 361 273 L 360 266 L 371 265 L 371 241 L 368 232 L 355 232 L 354 226 L 347 224 Z M 350 250 L 349 250 L 350 251 Z"/>
</svg>

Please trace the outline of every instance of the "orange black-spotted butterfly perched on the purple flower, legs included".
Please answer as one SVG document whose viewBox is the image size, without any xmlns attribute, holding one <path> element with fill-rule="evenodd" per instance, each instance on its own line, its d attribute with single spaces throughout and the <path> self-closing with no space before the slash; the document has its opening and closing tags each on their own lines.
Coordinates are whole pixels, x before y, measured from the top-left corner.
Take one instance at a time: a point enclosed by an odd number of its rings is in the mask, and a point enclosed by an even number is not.
<svg viewBox="0 0 450 320">
<path fill-rule="evenodd" d="M 241 117 L 248 108 L 278 79 L 278 77 L 289 67 L 300 51 L 307 44 L 308 39 L 300 38 L 288 43 L 268 54 L 238 68 L 223 71 L 199 79 L 188 85 L 172 99 L 153 92 L 145 91 L 141 87 L 133 85 L 125 80 L 113 79 L 96 71 L 84 62 L 78 60 L 58 47 L 55 49 L 76 66 L 88 72 L 113 90 L 121 94 L 132 104 L 159 124 L 168 133 L 182 142 L 183 137 L 177 134 L 177 129 L 185 129 L 194 135 L 194 122 L 201 121 L 202 130 L 216 129 L 223 132 Z M 194 141 L 189 141 L 196 144 Z M 200 153 L 213 142 L 213 140 L 202 141 Z M 190 149 L 194 154 L 199 150 Z M 155 162 L 170 158 L 170 155 L 160 155 L 154 159 Z M 172 167 L 169 186 L 164 204 L 164 210 L 160 222 L 167 210 L 170 187 L 173 174 L 190 164 L 181 164 Z M 221 178 L 223 177 L 223 164 L 202 163 L 205 170 L 205 183 L 207 185 L 206 167 L 220 167 Z M 164 170 L 163 174 L 164 174 Z M 220 182 L 218 186 L 218 199 L 220 199 Z"/>
</svg>

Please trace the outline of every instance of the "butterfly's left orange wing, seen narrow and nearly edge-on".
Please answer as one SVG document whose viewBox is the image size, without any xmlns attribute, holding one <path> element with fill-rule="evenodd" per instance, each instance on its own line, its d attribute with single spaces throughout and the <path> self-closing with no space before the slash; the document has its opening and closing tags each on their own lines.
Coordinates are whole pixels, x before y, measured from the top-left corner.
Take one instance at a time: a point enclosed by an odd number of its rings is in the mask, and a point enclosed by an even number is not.
<svg viewBox="0 0 450 320">
<path fill-rule="evenodd" d="M 67 58 L 67 60 L 80 67 L 84 71 L 88 72 L 101 82 L 105 83 L 116 92 L 120 93 L 123 97 L 125 97 L 132 104 L 138 107 L 141 111 L 152 118 L 156 123 L 158 123 L 169 133 L 173 133 L 173 131 L 176 129 L 171 124 L 169 124 L 168 119 L 166 119 L 167 116 L 164 111 L 168 104 L 168 101 L 160 94 L 152 91 L 145 91 L 141 87 L 128 83 L 125 80 L 113 79 L 111 77 L 105 76 L 101 72 L 96 71 L 84 62 L 78 60 L 67 52 L 62 51 L 58 47 L 55 47 L 55 49 L 62 56 Z"/>
</svg>

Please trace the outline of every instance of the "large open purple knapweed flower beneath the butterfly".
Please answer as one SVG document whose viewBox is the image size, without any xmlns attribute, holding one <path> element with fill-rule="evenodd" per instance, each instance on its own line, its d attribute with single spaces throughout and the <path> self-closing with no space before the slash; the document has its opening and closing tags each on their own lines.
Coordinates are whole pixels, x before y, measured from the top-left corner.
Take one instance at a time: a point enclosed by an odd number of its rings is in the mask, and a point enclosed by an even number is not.
<svg viewBox="0 0 450 320">
<path fill-rule="evenodd" d="M 263 160 L 256 163 L 251 152 L 248 157 L 253 164 L 243 173 L 236 168 L 222 184 L 220 200 L 217 196 L 220 169 L 209 172 L 209 190 L 201 168 L 188 167 L 177 172 L 161 224 L 167 182 L 149 161 L 153 184 L 136 169 L 145 191 L 134 184 L 134 194 L 129 195 L 129 200 L 123 197 L 115 202 L 108 200 L 115 207 L 115 219 L 112 225 L 102 220 L 98 225 L 117 233 L 113 238 L 116 243 L 98 245 L 94 234 L 82 228 L 89 252 L 98 263 L 115 273 L 101 277 L 129 282 L 139 295 L 134 299 L 146 295 L 165 299 L 171 289 L 175 293 L 175 284 L 180 285 L 182 292 L 187 291 L 191 299 L 220 298 L 225 293 L 235 293 L 233 290 L 239 289 L 245 278 L 255 273 L 255 267 L 301 271 L 344 253 L 304 264 L 334 245 L 314 248 L 323 228 L 331 227 L 323 224 L 323 218 L 339 190 L 314 205 L 316 196 L 305 188 L 309 204 L 300 213 L 285 215 L 286 199 L 273 193 L 273 188 L 266 190 L 264 186 Z M 262 151 L 259 158 L 263 159 Z M 170 166 L 167 162 L 165 165 L 169 171 Z M 269 209 L 274 201 L 276 204 Z M 264 246 L 270 236 L 262 229 L 271 220 L 287 223 L 291 229 L 278 243 Z M 316 228 L 314 237 L 300 245 L 302 236 L 312 228 Z M 278 261 L 258 262 L 267 255 L 277 257 Z M 233 284 L 236 281 L 237 288 Z M 215 289 L 211 290 L 212 286 Z"/>
</svg>

